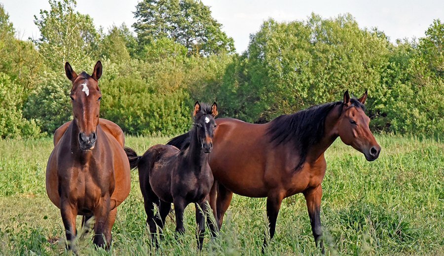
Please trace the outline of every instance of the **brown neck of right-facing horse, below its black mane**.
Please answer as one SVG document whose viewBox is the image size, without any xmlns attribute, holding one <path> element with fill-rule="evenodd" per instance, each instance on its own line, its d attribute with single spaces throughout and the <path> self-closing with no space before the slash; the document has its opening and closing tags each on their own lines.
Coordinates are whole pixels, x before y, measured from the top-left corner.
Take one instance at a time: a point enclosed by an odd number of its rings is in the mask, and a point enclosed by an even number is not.
<svg viewBox="0 0 444 256">
<path fill-rule="evenodd" d="M 312 149 L 307 152 L 307 161 L 315 162 L 324 156 L 324 152 L 333 144 L 339 136 L 336 130 L 336 123 L 339 120 L 342 105 L 334 106 L 327 115 L 324 124 L 324 136 L 313 145 Z"/>
</svg>

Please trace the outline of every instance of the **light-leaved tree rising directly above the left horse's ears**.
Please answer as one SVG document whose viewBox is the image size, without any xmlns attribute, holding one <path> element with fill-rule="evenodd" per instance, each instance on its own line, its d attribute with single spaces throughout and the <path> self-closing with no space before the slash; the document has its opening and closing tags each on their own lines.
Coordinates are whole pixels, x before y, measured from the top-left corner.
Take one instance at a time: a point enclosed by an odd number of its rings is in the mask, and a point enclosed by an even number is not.
<svg viewBox="0 0 444 256">
<path fill-rule="evenodd" d="M 59 70 L 65 62 L 83 63 L 97 55 L 99 35 L 89 15 L 74 12 L 75 0 L 49 0 L 50 10 L 40 10 L 34 23 L 40 30 L 35 40 L 48 67 Z"/>
</svg>

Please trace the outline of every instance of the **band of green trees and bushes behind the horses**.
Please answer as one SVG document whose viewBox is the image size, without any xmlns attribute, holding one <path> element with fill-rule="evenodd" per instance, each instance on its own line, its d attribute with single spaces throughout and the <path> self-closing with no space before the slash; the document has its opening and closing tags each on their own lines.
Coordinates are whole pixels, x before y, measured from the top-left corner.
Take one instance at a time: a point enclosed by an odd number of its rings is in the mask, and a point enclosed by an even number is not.
<svg viewBox="0 0 444 256">
<path fill-rule="evenodd" d="M 220 106 L 220 116 L 267 122 L 344 90 L 369 90 L 375 130 L 442 134 L 444 26 L 396 44 L 351 15 L 304 21 L 272 19 L 238 55 L 199 0 L 143 0 L 133 24 L 108 32 L 76 12 L 74 0 L 50 0 L 35 16 L 36 40 L 19 40 L 0 5 L 0 137 L 52 134 L 72 117 L 63 65 L 104 75 L 101 116 L 131 134 L 172 135 L 189 128 L 193 102 Z"/>
</svg>

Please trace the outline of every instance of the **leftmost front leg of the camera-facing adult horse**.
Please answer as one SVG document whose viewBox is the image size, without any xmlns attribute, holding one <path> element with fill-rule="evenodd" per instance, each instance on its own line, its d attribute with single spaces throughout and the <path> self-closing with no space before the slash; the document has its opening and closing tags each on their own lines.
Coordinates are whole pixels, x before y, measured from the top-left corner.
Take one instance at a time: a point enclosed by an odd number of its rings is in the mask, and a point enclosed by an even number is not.
<svg viewBox="0 0 444 256">
<path fill-rule="evenodd" d="M 63 225 L 65 226 L 68 250 L 71 250 L 74 252 L 74 254 L 77 254 L 74 245 L 74 238 L 77 235 L 77 229 L 75 228 L 77 208 L 69 202 L 69 199 L 65 198 L 61 200 L 60 213 L 62 215 Z"/>
</svg>

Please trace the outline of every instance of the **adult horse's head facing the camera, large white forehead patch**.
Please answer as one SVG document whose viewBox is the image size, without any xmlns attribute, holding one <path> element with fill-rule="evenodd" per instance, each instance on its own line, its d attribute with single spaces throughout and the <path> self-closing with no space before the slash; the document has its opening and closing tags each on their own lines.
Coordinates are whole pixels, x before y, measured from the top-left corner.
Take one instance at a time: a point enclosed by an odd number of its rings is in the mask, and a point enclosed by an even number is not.
<svg viewBox="0 0 444 256">
<path fill-rule="evenodd" d="M 98 61 L 90 76 L 85 72 L 77 75 L 71 65 L 65 64 L 68 79 L 73 82 L 71 102 L 73 103 L 74 125 L 78 128 L 78 142 L 81 150 L 91 150 L 96 143 L 96 129 L 99 124 L 99 110 L 102 93 L 98 80 L 102 76 L 102 63 Z"/>
</svg>

